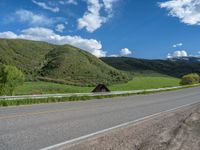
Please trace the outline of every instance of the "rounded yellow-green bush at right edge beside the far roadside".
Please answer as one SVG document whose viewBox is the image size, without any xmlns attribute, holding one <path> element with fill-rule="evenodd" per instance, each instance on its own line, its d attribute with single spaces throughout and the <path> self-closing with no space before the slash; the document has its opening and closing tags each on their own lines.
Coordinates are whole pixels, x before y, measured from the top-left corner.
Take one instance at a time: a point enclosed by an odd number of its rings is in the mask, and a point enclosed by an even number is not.
<svg viewBox="0 0 200 150">
<path fill-rule="evenodd" d="M 182 77 L 181 85 L 197 84 L 200 81 L 200 77 L 197 73 L 191 73 Z"/>
</svg>

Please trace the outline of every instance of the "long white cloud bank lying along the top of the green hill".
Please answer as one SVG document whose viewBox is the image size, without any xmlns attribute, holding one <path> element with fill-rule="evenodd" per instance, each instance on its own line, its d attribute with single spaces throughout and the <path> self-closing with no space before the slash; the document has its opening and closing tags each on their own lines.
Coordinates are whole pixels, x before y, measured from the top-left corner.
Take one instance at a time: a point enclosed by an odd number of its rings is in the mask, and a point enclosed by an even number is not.
<svg viewBox="0 0 200 150">
<path fill-rule="evenodd" d="M 10 39 L 28 39 L 35 41 L 45 41 L 52 44 L 70 44 L 78 48 L 84 49 L 97 57 L 106 56 L 106 52 L 102 50 L 101 42 L 95 39 L 84 39 L 80 36 L 61 36 L 56 34 L 53 30 L 48 28 L 28 28 L 21 31 L 21 34 L 15 34 L 13 32 L 2 32 L 0 38 Z"/>
</svg>

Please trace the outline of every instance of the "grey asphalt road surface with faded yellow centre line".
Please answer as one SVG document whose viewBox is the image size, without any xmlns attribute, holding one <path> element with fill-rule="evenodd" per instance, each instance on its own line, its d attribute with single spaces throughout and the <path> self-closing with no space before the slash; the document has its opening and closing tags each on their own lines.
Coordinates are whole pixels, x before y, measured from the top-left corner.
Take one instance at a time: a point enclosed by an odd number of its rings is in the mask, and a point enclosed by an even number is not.
<svg viewBox="0 0 200 150">
<path fill-rule="evenodd" d="M 0 150 L 37 150 L 200 102 L 200 87 L 173 92 L 0 108 Z"/>
</svg>

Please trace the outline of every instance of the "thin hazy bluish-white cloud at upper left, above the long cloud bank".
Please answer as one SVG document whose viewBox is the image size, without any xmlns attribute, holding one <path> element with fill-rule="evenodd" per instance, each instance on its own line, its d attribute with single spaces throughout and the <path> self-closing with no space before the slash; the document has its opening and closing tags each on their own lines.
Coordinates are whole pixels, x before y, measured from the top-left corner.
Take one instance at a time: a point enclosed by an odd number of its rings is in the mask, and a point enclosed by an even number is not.
<svg viewBox="0 0 200 150">
<path fill-rule="evenodd" d="M 15 13 L 16 21 L 28 22 L 31 25 L 50 25 L 53 23 L 52 19 L 46 16 L 34 14 L 31 11 L 20 9 Z"/>
</svg>

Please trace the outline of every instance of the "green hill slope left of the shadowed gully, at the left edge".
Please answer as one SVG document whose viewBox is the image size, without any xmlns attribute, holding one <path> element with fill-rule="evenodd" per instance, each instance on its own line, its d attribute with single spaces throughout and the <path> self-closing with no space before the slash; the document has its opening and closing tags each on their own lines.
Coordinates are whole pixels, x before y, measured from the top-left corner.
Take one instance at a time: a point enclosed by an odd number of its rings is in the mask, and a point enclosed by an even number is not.
<svg viewBox="0 0 200 150">
<path fill-rule="evenodd" d="M 0 39 L 0 64 L 16 66 L 29 78 L 37 75 L 45 55 L 53 48 L 45 42 Z"/>
</svg>

